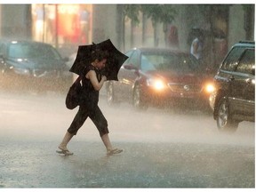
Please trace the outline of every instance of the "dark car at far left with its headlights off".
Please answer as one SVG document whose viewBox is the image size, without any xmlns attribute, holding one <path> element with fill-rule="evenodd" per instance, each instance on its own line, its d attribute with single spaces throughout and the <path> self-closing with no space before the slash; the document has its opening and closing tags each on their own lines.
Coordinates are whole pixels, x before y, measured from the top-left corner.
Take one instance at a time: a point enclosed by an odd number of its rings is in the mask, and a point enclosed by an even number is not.
<svg viewBox="0 0 256 192">
<path fill-rule="evenodd" d="M 67 90 L 73 80 L 66 61 L 51 44 L 0 40 L 1 86 Z"/>
</svg>

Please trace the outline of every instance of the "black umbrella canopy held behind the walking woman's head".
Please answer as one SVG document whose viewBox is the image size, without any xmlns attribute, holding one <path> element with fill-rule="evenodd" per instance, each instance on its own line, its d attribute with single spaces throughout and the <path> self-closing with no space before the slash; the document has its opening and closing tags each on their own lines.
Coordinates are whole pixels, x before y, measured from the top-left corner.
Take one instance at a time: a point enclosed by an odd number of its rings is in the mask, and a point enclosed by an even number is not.
<svg viewBox="0 0 256 192">
<path fill-rule="evenodd" d="M 122 52 L 119 52 L 110 39 L 100 42 L 99 44 L 80 45 L 76 54 L 76 60 L 70 68 L 70 71 L 82 75 L 84 68 L 92 63 L 92 51 L 96 49 L 102 52 L 108 52 L 107 64 L 102 70 L 102 74 L 107 76 L 108 80 L 118 81 L 117 74 L 119 69 L 128 57 Z"/>
</svg>

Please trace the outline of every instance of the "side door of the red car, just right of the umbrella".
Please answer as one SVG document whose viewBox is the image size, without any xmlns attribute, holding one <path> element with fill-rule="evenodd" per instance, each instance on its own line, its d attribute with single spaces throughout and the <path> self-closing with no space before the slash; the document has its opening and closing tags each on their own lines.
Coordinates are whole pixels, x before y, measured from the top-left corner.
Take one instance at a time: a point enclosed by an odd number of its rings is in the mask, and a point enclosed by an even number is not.
<svg viewBox="0 0 256 192">
<path fill-rule="evenodd" d="M 139 66 L 139 52 L 137 50 L 133 50 L 132 52 L 126 53 L 129 56 L 128 60 L 124 62 L 122 68 L 118 73 L 119 79 L 119 92 L 122 94 L 121 96 L 124 99 L 132 98 L 132 88 L 135 82 L 136 77 L 138 76 L 138 70 L 134 68 L 138 68 Z M 126 68 L 125 66 L 130 66 L 132 68 Z"/>
</svg>

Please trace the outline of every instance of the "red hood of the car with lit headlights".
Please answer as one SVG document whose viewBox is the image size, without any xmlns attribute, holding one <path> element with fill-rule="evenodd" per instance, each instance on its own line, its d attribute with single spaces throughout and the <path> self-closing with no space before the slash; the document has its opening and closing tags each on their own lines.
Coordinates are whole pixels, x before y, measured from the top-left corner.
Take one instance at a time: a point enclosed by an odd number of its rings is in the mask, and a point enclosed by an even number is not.
<svg viewBox="0 0 256 192">
<path fill-rule="evenodd" d="M 146 76 L 148 78 L 160 78 L 169 84 L 202 84 L 207 78 L 199 73 L 177 73 L 172 71 L 148 71 Z"/>
</svg>

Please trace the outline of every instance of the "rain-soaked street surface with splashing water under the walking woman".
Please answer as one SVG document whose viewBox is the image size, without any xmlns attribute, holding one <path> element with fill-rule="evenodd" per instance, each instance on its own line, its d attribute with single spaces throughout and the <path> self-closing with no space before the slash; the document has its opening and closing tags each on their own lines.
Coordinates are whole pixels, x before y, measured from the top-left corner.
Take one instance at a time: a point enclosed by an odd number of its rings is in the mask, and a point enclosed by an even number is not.
<svg viewBox="0 0 256 192">
<path fill-rule="evenodd" d="M 88 119 L 68 148 L 55 151 L 77 108 L 65 94 L 0 91 L 0 188 L 255 188 L 255 124 L 233 134 L 217 129 L 211 114 L 128 103 L 99 106 L 109 137 L 124 152 L 106 156 Z"/>
</svg>

